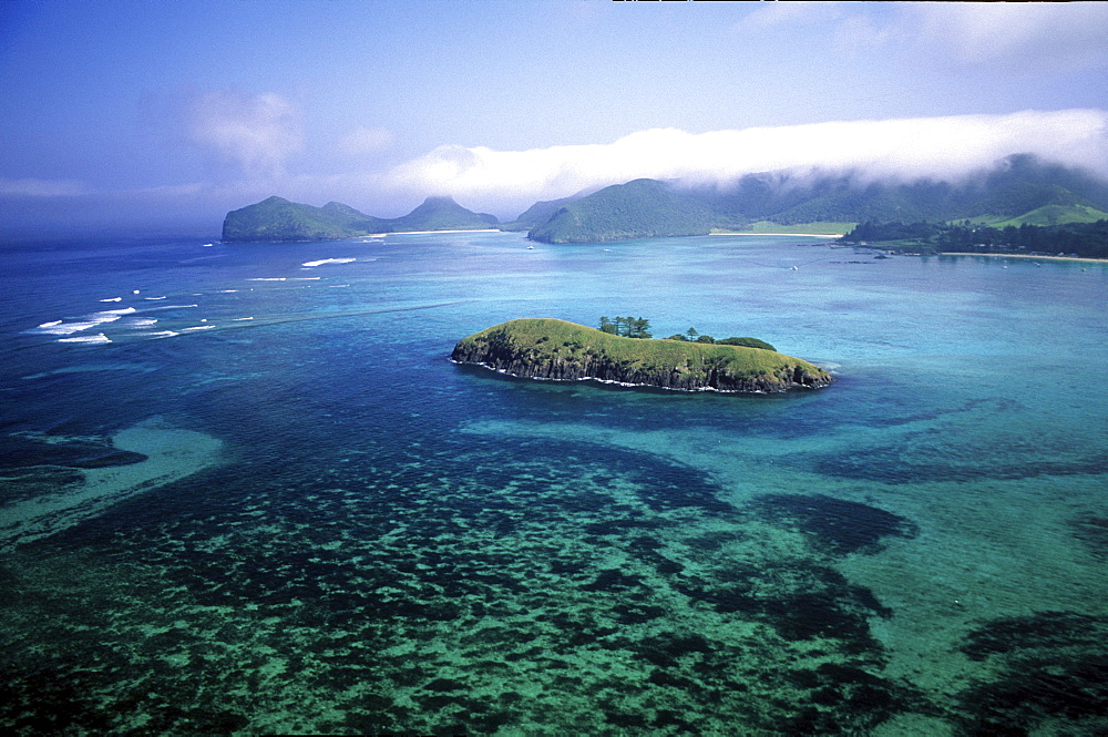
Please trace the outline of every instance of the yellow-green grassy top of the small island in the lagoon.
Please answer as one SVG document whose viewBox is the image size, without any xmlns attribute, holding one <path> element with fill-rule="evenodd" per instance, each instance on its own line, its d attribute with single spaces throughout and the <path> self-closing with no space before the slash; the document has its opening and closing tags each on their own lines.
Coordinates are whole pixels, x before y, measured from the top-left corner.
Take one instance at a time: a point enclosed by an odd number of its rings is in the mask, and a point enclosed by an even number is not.
<svg viewBox="0 0 1108 737">
<path fill-rule="evenodd" d="M 626 338 L 554 318 L 521 318 L 464 338 L 463 344 L 497 342 L 529 361 L 603 356 L 609 362 L 646 370 L 700 373 L 726 370 L 735 377 L 778 375 L 800 367 L 814 376 L 827 372 L 799 358 L 763 348 L 671 339 Z"/>
</svg>

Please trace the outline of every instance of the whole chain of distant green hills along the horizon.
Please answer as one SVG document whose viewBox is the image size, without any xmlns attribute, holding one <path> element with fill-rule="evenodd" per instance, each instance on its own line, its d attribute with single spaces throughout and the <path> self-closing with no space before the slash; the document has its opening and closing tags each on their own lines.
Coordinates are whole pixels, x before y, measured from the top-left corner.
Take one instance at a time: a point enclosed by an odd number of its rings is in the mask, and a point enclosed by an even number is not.
<svg viewBox="0 0 1108 737">
<path fill-rule="evenodd" d="M 525 231 L 536 243 L 568 244 L 799 231 L 849 233 L 853 242 L 910 239 L 942 247 L 944 239 L 971 246 L 986 243 L 979 236 L 974 239 L 974 229 L 998 245 L 1003 238 L 1012 239 L 1008 228 L 1105 219 L 1108 182 L 1019 154 L 958 183 L 897 183 L 863 180 L 852 173 L 796 172 L 749 174 L 727 185 L 642 178 L 537 202 L 510 223 L 469 211 L 450 197 L 428 197 L 408 215 L 391 219 L 335 202 L 314 207 L 269 197 L 228 213 L 223 239 L 327 240 L 404 231 L 495 228 Z M 912 228 L 905 231 L 902 224 L 912 224 Z M 951 229 L 955 224 L 972 225 L 973 229 Z M 1003 238 L 994 237 L 986 228 L 1008 232 Z M 938 231 L 947 235 L 933 238 Z M 1084 237 L 1080 228 L 1077 232 Z M 902 233 L 906 236 L 900 237 Z M 1033 239 L 1028 233 L 1024 231 L 1024 242 Z M 1059 233 L 1073 239 L 1069 232 Z M 1049 240 L 1053 235 L 1039 239 Z"/>
</svg>

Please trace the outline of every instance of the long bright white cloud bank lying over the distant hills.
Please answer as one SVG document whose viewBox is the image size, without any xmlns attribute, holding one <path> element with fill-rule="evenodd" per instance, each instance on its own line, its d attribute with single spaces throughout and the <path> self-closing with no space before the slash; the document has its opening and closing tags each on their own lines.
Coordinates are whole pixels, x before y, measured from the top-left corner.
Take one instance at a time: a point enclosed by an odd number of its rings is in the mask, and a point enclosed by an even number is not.
<svg viewBox="0 0 1108 737">
<path fill-rule="evenodd" d="M 655 129 L 609 144 L 496 151 L 440 146 L 378 181 L 382 190 L 468 201 L 552 199 L 638 177 L 726 184 L 779 170 L 873 178 L 958 178 L 1015 153 L 1108 176 L 1108 112 L 1024 111 L 687 133 Z"/>
</svg>

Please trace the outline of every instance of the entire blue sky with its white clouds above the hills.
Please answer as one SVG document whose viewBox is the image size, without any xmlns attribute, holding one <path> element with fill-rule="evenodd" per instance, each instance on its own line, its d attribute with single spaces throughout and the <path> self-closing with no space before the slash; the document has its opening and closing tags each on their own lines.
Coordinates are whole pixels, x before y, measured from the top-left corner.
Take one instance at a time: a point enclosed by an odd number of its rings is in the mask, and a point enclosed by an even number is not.
<svg viewBox="0 0 1108 737">
<path fill-rule="evenodd" d="M 0 228 L 217 232 L 269 194 L 511 217 L 635 176 L 1018 151 L 1106 173 L 1106 72 L 1105 3 L 7 0 Z"/>
</svg>

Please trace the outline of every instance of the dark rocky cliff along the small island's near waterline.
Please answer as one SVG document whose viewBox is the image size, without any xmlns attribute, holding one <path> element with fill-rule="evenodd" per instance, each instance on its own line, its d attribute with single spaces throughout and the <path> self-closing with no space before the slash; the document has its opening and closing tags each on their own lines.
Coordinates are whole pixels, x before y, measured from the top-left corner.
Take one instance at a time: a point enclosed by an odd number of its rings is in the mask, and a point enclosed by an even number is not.
<svg viewBox="0 0 1108 737">
<path fill-rule="evenodd" d="M 721 364 L 709 364 L 702 369 L 691 370 L 686 366 L 645 367 L 612 359 L 603 351 L 571 350 L 551 355 L 547 350 L 534 347 L 517 347 L 507 335 L 496 332 L 489 334 L 485 340 L 459 341 L 451 359 L 529 379 L 595 379 L 681 391 L 772 393 L 797 388 L 818 389 L 833 381 L 830 373 L 800 362 L 782 366 L 772 372 L 738 376 L 729 372 Z"/>
</svg>

